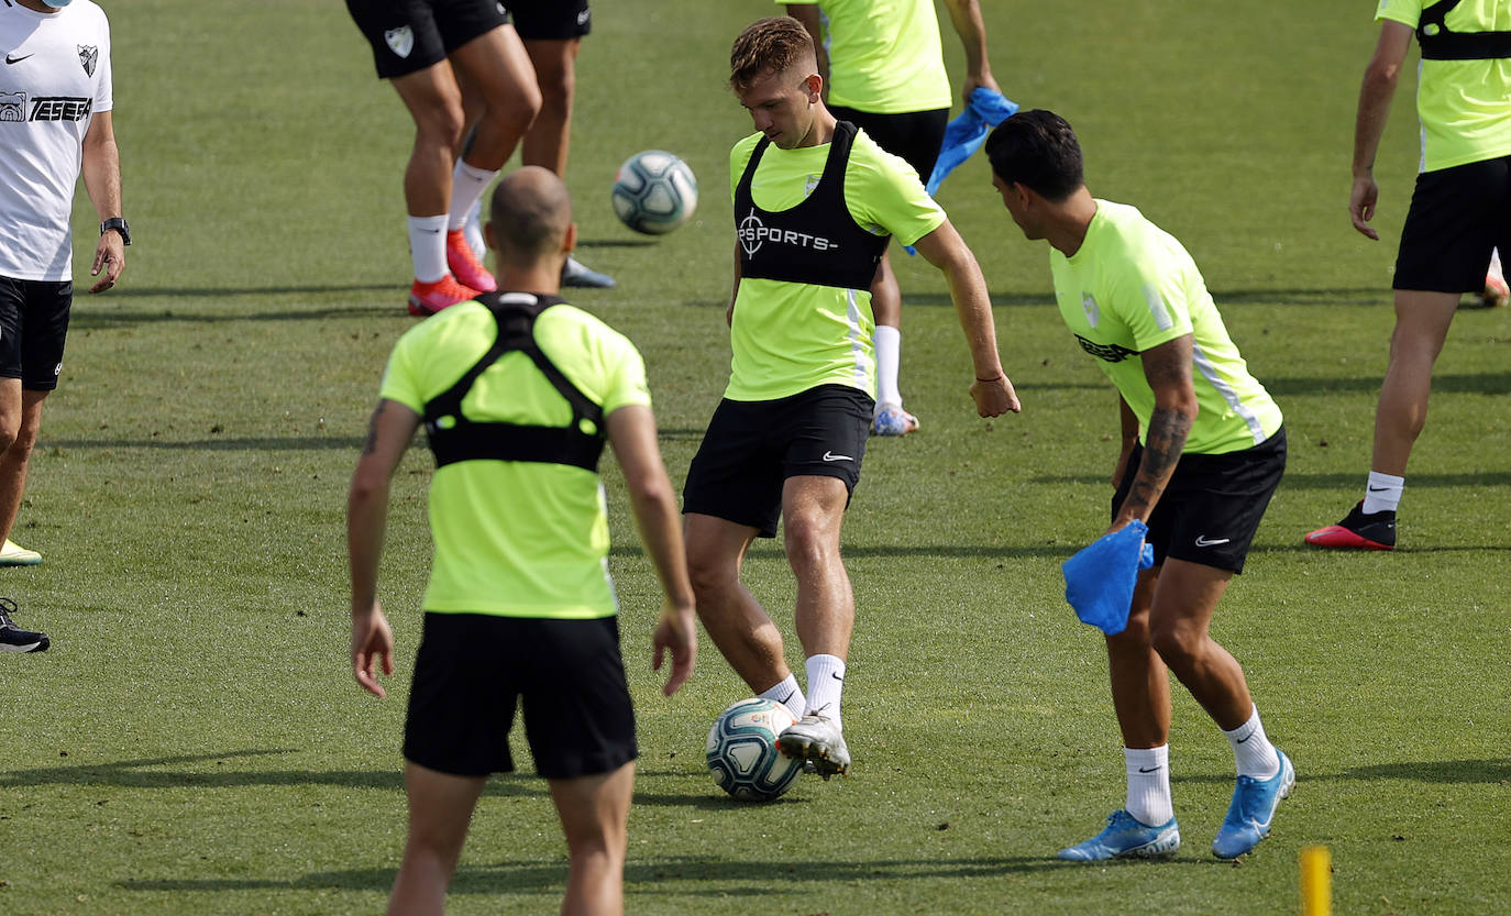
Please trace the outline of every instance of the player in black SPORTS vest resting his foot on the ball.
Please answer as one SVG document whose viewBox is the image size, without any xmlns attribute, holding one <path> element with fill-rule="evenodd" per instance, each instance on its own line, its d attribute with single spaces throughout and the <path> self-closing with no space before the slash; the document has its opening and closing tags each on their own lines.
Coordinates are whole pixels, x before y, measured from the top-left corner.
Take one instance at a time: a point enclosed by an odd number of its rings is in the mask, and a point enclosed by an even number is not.
<svg viewBox="0 0 1511 916">
<path fill-rule="evenodd" d="M 683 491 L 688 567 L 709 636 L 757 694 L 796 724 L 783 751 L 825 778 L 851 763 L 840 692 L 855 618 L 840 525 L 860 481 L 875 391 L 870 281 L 888 236 L 917 245 L 949 280 L 984 417 L 1017 411 L 997 358 L 975 255 L 913 169 L 839 122 L 822 100 L 813 41 L 790 17 L 734 41 L 730 86 L 754 135 L 730 153 L 734 293 L 730 382 Z M 781 518 L 798 580 L 796 629 L 808 694 L 783 638 L 740 583 L 740 562 Z"/>
</svg>

